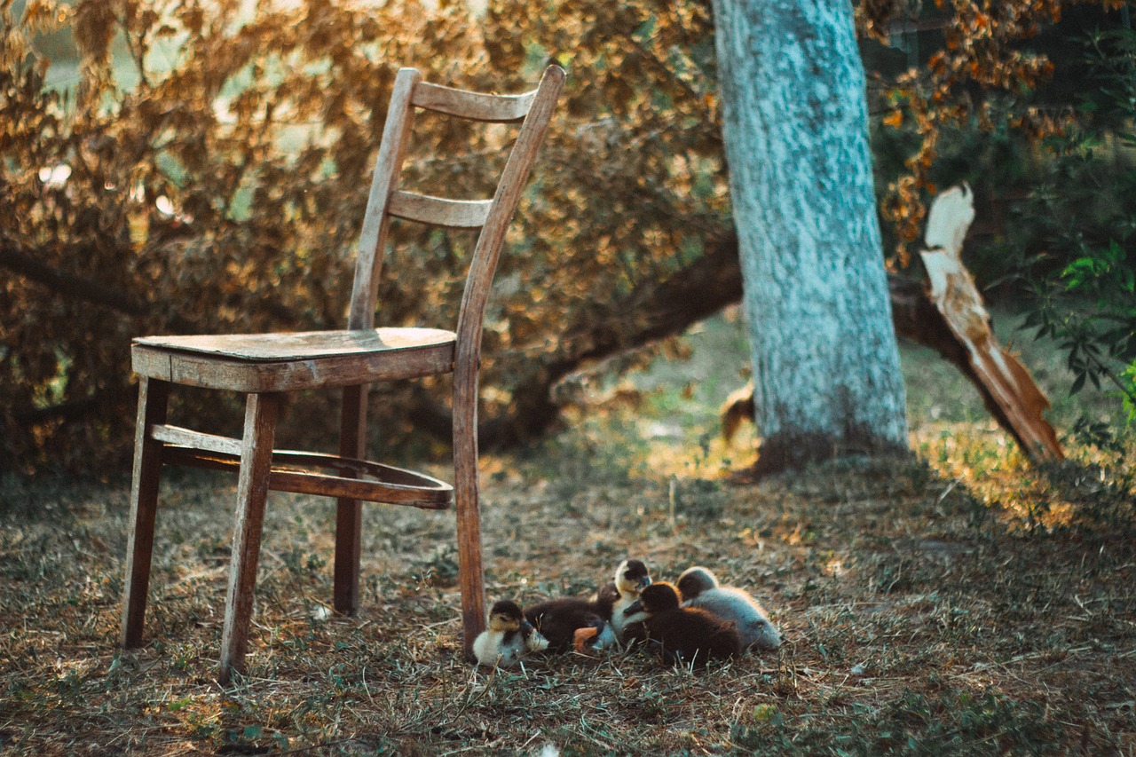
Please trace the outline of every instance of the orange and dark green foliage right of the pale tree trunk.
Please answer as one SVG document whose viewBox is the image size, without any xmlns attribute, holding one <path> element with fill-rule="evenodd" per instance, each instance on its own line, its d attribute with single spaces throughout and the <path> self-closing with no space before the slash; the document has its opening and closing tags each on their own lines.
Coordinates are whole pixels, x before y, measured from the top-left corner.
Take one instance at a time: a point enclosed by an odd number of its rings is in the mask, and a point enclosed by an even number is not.
<svg viewBox="0 0 1136 757">
<path fill-rule="evenodd" d="M 1127 9 L 1124 2 L 1100 5 Z M 944 49 L 883 90 L 887 128 L 879 141 L 885 151 L 910 156 L 902 175 L 891 172 L 884 215 L 895 222 L 905 264 L 907 244 L 921 232 L 921 192 L 963 178 L 977 184 L 986 202 L 968 255 L 975 273 L 987 283 L 1024 283 L 1025 325 L 1035 339 L 1060 343 L 1074 374 L 1070 391 L 1105 381 L 1131 419 L 1133 32 L 1122 26 L 1125 16 L 1114 15 L 1112 28 L 1092 35 L 1083 66 L 1084 40 L 1069 40 L 1072 51 L 1060 63 L 1094 86 L 1056 102 L 1036 91 L 1054 61 L 1011 43 L 1036 36 L 1070 6 L 953 3 Z"/>
</svg>

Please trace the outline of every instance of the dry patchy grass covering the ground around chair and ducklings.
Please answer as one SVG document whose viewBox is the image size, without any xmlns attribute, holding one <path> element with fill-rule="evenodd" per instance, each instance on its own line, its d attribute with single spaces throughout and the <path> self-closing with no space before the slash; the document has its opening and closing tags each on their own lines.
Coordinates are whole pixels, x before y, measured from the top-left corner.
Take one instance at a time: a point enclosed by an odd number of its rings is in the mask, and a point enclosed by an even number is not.
<svg viewBox="0 0 1136 757">
<path fill-rule="evenodd" d="M 727 447 L 716 415 L 744 339 L 716 318 L 678 347 L 691 359 L 580 377 L 570 424 L 484 460 L 488 597 L 588 591 L 626 556 L 657 579 L 702 563 L 766 604 L 778 652 L 474 671 L 452 514 L 368 508 L 346 618 L 327 609 L 334 505 L 273 494 L 249 675 L 222 689 L 232 480 L 164 483 L 147 646 L 119 654 L 128 481 L 8 479 L 0 752 L 1136 754 L 1130 440 L 1070 439 L 1072 463 L 1031 468 L 964 381 L 904 348 L 916 458 L 732 484 L 753 432 Z M 1059 398 L 1064 376 L 1036 372 Z M 1113 411 L 1056 405 L 1060 429 Z"/>
</svg>

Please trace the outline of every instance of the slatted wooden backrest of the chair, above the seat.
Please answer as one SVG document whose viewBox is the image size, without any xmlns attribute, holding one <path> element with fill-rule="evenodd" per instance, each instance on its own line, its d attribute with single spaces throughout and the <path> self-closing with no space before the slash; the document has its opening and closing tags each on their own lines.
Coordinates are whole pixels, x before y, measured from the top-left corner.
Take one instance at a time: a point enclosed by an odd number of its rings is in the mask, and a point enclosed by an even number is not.
<svg viewBox="0 0 1136 757">
<path fill-rule="evenodd" d="M 391 92 L 391 105 L 383 127 L 383 141 L 375 163 L 367 211 L 364 216 L 351 293 L 349 328 L 375 325 L 375 298 L 382 268 L 383 248 L 390 218 L 407 218 L 456 228 L 481 228 L 466 280 L 458 316 L 458 342 L 471 340 L 479 352 L 482 318 L 496 271 L 506 231 L 517 209 L 521 190 L 536 160 L 544 132 L 565 72 L 549 66 L 540 85 L 526 94 L 483 94 L 453 90 L 421 81 L 414 68 L 399 70 Z M 521 127 L 491 200 L 450 200 L 406 192 L 398 188 L 414 123 L 414 109 L 423 108 L 468 120 L 516 123 Z"/>
</svg>

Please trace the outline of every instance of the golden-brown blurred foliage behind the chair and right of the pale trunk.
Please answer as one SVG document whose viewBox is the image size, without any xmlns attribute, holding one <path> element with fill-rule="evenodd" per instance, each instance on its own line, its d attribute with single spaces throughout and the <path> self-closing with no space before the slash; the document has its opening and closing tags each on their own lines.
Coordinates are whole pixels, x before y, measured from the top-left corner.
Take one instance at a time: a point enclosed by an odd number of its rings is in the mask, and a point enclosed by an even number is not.
<svg viewBox="0 0 1136 757">
<path fill-rule="evenodd" d="M 900 5 L 864 13 L 883 19 Z M 917 178 L 892 191 L 911 202 L 885 203 L 888 218 L 918 224 L 918 177 L 936 134 L 972 113 L 968 86 L 1012 89 L 1044 73 L 1012 43 L 1061 5 L 938 11 L 962 32 L 934 66 L 879 88 L 887 119 L 902 114 L 918 138 L 899 145 L 917 156 Z M 130 455 L 131 336 L 343 324 L 364 188 L 401 65 L 499 91 L 527 89 L 548 60 L 570 69 L 487 314 L 485 417 L 529 411 L 529 388 L 586 355 L 595 334 L 627 342 L 640 316 L 612 303 L 634 302 L 729 231 L 704 2 L 553 0 L 537 14 L 525 0 L 492 0 L 475 18 L 454 1 L 28 0 L 18 14 L 0 0 L 0 15 L 6 469 L 106 471 Z M 50 45 L 74 34 L 74 86 L 49 84 L 52 61 L 37 52 L 42 33 L 60 27 Z M 478 196 L 486 176 L 465 168 L 496 155 L 507 133 L 426 118 L 420 127 L 412 181 Z M 454 145 L 453 161 L 435 159 Z M 469 240 L 409 224 L 395 238 L 378 321 L 452 327 Z M 394 408 L 443 402 L 443 392 L 376 392 L 384 442 L 410 427 Z M 293 406 L 282 443 L 333 444 L 334 399 Z M 175 401 L 222 433 L 237 427 L 232 399 Z"/>
</svg>

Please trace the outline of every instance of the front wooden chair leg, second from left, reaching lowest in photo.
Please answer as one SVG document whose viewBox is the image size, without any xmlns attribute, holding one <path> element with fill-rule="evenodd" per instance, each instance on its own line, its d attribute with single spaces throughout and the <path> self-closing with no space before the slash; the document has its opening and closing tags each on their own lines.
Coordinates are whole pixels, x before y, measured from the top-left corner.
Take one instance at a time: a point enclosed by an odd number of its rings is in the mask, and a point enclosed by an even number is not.
<svg viewBox="0 0 1136 757">
<path fill-rule="evenodd" d="M 228 593 L 225 597 L 220 671 L 217 676 L 222 685 L 228 684 L 233 671 L 244 672 L 278 408 L 278 394 L 249 394 L 245 401 L 241 472 L 236 484 L 236 521 L 233 526 L 233 554 Z"/>
</svg>

